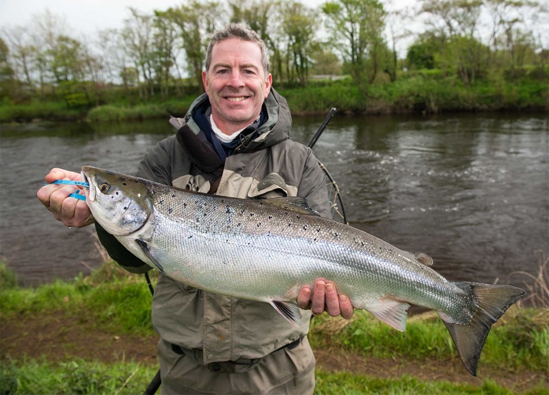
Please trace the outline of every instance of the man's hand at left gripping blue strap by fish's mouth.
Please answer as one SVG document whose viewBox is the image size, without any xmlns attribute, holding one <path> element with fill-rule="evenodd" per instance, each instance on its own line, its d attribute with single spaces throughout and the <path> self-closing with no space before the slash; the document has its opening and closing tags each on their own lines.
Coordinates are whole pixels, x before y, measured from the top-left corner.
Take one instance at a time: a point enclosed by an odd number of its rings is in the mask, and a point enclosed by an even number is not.
<svg viewBox="0 0 549 395">
<path fill-rule="evenodd" d="M 85 227 L 94 222 L 91 211 L 85 201 L 69 197 L 69 194 L 80 189 L 78 186 L 51 184 L 58 179 L 82 181 L 80 173 L 53 168 L 46 175 L 47 185 L 38 190 L 36 196 L 40 203 L 54 214 L 56 220 L 63 222 L 67 227 Z"/>
</svg>

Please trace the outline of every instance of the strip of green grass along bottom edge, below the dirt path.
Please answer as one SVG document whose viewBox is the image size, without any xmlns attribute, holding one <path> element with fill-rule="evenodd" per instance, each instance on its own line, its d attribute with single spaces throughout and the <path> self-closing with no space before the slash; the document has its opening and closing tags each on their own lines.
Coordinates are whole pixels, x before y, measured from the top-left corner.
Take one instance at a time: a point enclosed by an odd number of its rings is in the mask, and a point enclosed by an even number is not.
<svg viewBox="0 0 549 395">
<path fill-rule="evenodd" d="M 141 394 L 157 366 L 133 361 L 102 364 L 73 359 L 52 363 L 45 359 L 3 361 L 0 364 L 0 394 Z M 375 372 L 373 372 L 375 374 Z M 522 395 L 548 394 L 546 387 L 535 387 Z M 486 380 L 480 385 L 424 381 L 404 376 L 400 379 L 376 379 L 351 372 L 327 372 L 316 369 L 315 395 L 511 395 L 517 394 Z"/>
</svg>

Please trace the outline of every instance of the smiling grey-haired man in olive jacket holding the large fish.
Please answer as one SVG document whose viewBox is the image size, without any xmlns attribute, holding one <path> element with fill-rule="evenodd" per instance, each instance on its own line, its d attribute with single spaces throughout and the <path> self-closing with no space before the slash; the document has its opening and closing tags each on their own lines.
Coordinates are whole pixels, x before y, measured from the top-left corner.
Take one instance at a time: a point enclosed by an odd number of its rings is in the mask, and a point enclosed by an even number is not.
<svg viewBox="0 0 549 395">
<path fill-rule="evenodd" d="M 268 51 L 249 27 L 231 24 L 216 33 L 207 51 L 202 81 L 206 94 L 178 130 L 152 148 L 137 175 L 178 188 L 246 199 L 303 196 L 323 216 L 329 204 L 323 172 L 312 151 L 289 139 L 288 105 L 272 90 Z M 51 170 L 46 181 L 79 179 Z M 47 185 L 38 199 L 67 226 L 93 222 L 85 202 L 67 199 L 71 186 Z M 84 203 L 84 204 L 82 204 Z M 108 253 L 132 272 L 150 267 L 131 255 L 99 225 Z M 300 307 L 314 314 L 350 318 L 349 298 L 319 280 L 304 288 Z M 301 328 L 268 303 L 209 292 L 161 275 L 152 301 L 152 321 L 161 337 L 158 356 L 163 394 L 312 394 L 314 355 L 307 341 L 309 311 Z"/>
</svg>

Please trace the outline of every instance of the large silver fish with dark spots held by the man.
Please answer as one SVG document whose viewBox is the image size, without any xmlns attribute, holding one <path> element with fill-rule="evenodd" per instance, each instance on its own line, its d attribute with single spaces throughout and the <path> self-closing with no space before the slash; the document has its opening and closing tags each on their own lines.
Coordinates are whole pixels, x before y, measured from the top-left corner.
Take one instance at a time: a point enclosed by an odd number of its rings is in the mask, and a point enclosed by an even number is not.
<svg viewBox="0 0 549 395">
<path fill-rule="evenodd" d="M 447 281 L 432 259 L 318 216 L 305 199 L 235 199 L 179 190 L 82 167 L 86 202 L 99 224 L 134 255 L 196 288 L 270 303 L 301 324 L 296 298 L 318 279 L 355 309 L 399 331 L 410 304 L 432 309 L 476 376 L 491 324 L 525 294 L 510 285 Z"/>
</svg>

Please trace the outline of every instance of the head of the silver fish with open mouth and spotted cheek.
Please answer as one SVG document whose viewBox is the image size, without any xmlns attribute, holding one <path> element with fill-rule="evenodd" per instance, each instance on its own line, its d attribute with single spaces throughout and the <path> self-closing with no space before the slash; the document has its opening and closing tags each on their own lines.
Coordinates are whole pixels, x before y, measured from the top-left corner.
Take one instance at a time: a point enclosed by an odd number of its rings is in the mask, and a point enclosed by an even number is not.
<svg viewBox="0 0 549 395">
<path fill-rule="evenodd" d="M 150 191 L 143 179 L 102 168 L 82 166 L 86 203 L 93 218 L 112 235 L 128 235 L 147 222 Z"/>
</svg>

